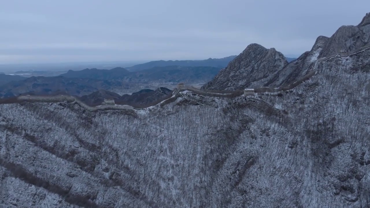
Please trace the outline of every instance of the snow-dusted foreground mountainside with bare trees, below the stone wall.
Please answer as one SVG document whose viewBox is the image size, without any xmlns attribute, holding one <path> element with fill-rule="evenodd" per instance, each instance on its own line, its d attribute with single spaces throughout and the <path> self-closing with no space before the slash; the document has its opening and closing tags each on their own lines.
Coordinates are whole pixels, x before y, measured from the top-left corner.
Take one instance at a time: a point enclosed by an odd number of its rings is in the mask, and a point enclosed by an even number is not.
<svg viewBox="0 0 370 208">
<path fill-rule="evenodd" d="M 311 63 L 327 42 L 280 94 L 1 104 L 0 207 L 369 207 L 370 48 Z"/>
</svg>

